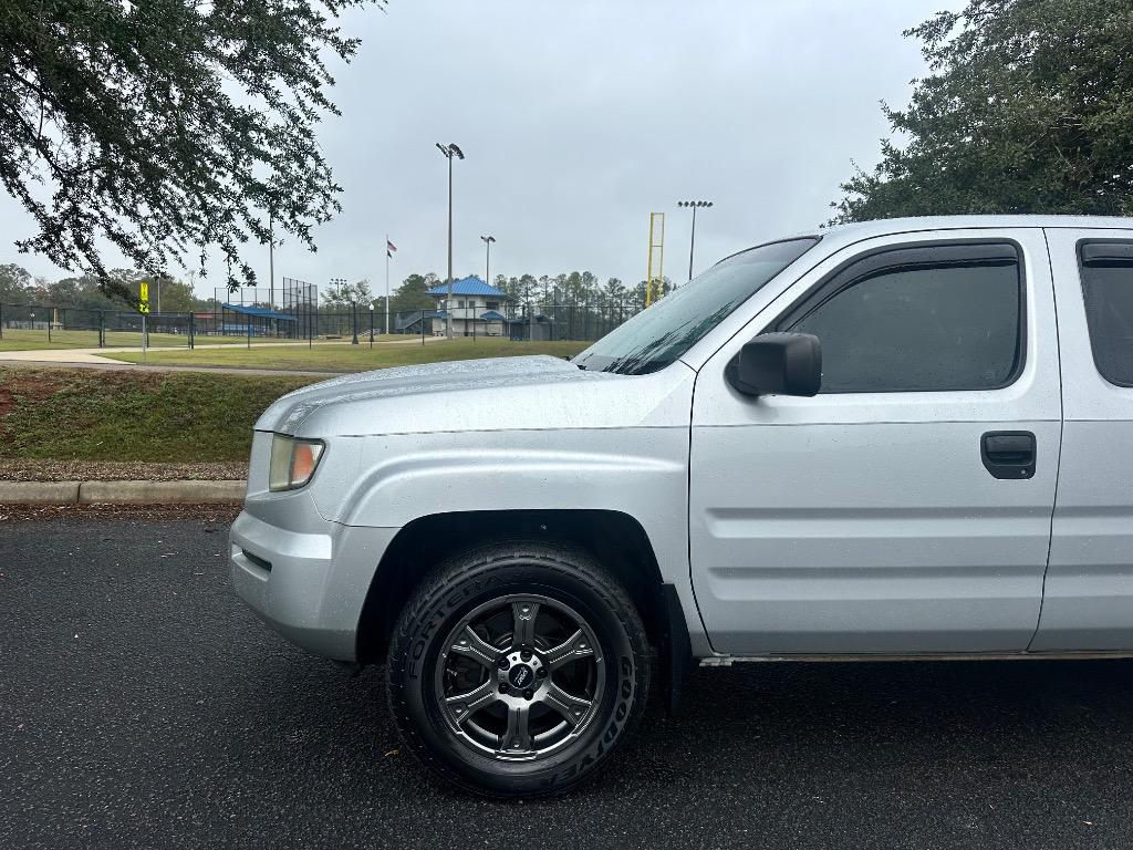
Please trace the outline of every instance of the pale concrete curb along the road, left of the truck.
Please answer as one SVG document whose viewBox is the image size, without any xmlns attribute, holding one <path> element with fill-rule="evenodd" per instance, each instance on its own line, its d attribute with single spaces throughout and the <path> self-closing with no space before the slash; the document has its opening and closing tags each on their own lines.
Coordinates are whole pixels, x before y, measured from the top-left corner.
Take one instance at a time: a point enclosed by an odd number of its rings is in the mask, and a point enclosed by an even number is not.
<svg viewBox="0 0 1133 850">
<path fill-rule="evenodd" d="M 242 502 L 242 481 L 0 481 L 0 504 L 205 504 Z"/>
</svg>

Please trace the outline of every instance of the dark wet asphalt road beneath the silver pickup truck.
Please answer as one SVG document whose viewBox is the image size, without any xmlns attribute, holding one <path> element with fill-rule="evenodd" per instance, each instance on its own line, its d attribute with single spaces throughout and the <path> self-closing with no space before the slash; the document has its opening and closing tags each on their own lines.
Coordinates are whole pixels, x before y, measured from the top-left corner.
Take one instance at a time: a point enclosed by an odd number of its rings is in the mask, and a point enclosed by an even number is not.
<svg viewBox="0 0 1133 850">
<path fill-rule="evenodd" d="M 585 790 L 461 796 L 233 598 L 225 530 L 0 519 L 0 848 L 1133 845 L 1125 662 L 699 670 Z"/>
</svg>

